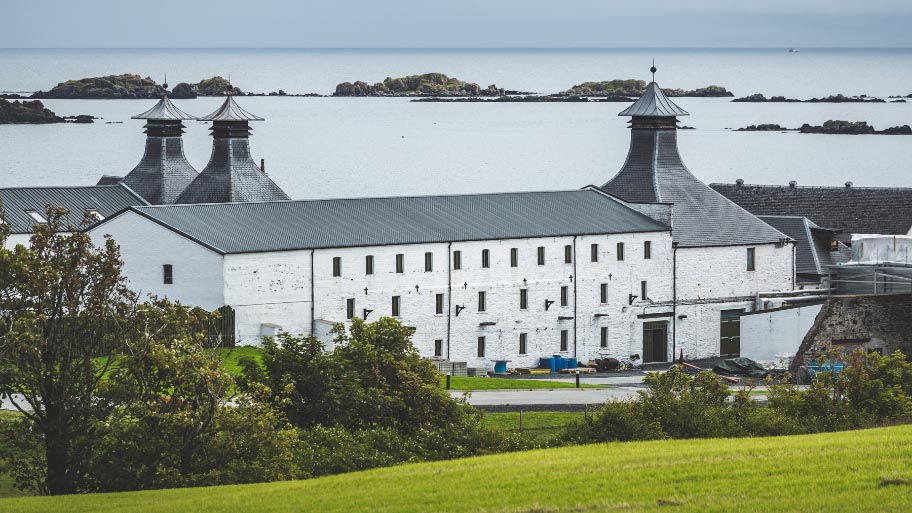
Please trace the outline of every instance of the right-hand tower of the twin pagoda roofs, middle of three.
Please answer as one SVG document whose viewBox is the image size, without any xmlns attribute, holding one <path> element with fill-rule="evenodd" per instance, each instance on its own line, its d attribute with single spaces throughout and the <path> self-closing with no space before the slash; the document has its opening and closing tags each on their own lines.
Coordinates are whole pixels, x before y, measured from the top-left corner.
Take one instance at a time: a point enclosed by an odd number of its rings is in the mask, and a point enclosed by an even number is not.
<svg viewBox="0 0 912 513">
<path fill-rule="evenodd" d="M 249 122 L 263 118 L 241 108 L 229 95 L 218 110 L 198 119 L 212 121 L 212 156 L 206 168 L 180 195 L 178 203 L 289 199 L 250 156 Z"/>
</svg>

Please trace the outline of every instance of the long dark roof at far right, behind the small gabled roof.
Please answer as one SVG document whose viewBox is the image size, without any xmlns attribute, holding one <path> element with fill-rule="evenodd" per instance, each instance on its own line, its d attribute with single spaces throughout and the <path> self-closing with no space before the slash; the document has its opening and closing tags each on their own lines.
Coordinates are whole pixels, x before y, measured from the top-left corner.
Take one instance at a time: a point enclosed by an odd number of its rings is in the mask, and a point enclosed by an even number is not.
<svg viewBox="0 0 912 513">
<path fill-rule="evenodd" d="M 805 216 L 847 234 L 905 235 L 912 229 L 912 188 L 725 183 L 710 187 L 756 215 Z"/>
</svg>

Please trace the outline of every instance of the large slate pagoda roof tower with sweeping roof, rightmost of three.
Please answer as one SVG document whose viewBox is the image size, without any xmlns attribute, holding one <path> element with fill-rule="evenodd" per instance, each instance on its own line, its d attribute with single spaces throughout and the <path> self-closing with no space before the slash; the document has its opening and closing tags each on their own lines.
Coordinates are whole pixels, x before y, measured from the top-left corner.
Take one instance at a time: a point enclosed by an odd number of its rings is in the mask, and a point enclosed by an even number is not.
<svg viewBox="0 0 912 513">
<path fill-rule="evenodd" d="M 624 166 L 602 190 L 631 203 L 673 203 L 672 237 L 680 247 L 764 244 L 787 239 L 695 177 L 678 153 L 675 105 L 653 81 L 619 116 L 630 116 Z"/>
</svg>

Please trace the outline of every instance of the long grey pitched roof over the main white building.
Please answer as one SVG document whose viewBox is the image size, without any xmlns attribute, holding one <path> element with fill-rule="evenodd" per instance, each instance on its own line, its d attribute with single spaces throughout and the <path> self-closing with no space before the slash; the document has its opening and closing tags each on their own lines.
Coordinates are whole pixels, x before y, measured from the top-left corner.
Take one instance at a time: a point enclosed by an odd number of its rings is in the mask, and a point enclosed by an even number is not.
<svg viewBox="0 0 912 513">
<path fill-rule="evenodd" d="M 220 253 L 669 230 L 592 189 L 130 210 Z"/>
</svg>

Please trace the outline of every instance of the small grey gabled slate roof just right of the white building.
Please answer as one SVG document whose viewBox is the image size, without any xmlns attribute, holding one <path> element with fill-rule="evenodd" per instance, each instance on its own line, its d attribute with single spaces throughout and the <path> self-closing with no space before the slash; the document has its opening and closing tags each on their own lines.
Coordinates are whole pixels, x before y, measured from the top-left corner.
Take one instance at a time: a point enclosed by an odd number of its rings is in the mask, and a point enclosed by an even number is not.
<svg viewBox="0 0 912 513">
<path fill-rule="evenodd" d="M 847 260 L 848 252 L 831 251 L 829 241 L 838 230 L 821 228 L 802 216 L 758 216 L 765 223 L 798 242 L 795 248 L 795 272 L 806 275 L 827 274 L 826 266 Z"/>
</svg>

